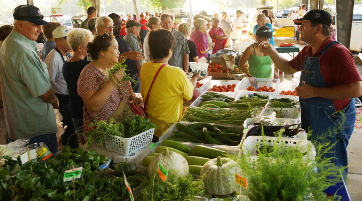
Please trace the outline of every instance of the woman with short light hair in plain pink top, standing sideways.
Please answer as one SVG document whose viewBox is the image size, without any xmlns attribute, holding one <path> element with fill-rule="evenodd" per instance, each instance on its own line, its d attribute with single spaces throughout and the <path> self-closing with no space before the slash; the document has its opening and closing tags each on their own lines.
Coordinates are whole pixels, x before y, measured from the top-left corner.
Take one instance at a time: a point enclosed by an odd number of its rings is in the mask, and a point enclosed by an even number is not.
<svg viewBox="0 0 362 201">
<path fill-rule="evenodd" d="M 207 21 L 202 18 L 198 18 L 197 20 L 195 20 L 195 31 L 192 32 L 190 40 L 195 43 L 198 57 L 201 58 L 204 56 L 207 60 L 209 60 L 207 52 L 211 50 L 212 47 L 209 46 L 209 43 L 207 42 L 206 24 Z"/>
</svg>

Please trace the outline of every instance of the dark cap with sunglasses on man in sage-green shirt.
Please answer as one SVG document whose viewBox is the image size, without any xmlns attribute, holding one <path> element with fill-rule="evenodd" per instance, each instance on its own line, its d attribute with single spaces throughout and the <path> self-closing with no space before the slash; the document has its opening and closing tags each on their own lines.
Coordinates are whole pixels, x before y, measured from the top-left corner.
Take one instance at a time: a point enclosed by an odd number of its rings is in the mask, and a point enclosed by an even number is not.
<svg viewBox="0 0 362 201">
<path fill-rule="evenodd" d="M 13 17 L 15 20 L 29 21 L 37 25 L 50 25 L 49 22 L 43 20 L 44 16 L 39 8 L 29 4 L 16 7 L 13 11 Z"/>
</svg>

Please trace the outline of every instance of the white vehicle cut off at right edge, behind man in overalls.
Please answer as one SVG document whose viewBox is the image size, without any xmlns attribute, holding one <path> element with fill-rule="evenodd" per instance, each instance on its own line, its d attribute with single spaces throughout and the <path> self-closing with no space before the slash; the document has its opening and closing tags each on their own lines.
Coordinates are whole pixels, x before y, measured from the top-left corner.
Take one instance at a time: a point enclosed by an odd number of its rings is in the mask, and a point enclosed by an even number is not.
<svg viewBox="0 0 362 201">
<path fill-rule="evenodd" d="M 349 50 L 362 51 L 362 14 L 354 14 L 352 19 L 351 41 Z"/>
</svg>

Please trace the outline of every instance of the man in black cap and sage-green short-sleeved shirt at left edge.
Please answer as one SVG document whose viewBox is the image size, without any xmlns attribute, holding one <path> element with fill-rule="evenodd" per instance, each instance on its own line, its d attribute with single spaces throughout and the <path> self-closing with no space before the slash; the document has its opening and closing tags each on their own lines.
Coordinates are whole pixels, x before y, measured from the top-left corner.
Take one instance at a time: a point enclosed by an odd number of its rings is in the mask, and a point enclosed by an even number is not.
<svg viewBox="0 0 362 201">
<path fill-rule="evenodd" d="M 7 141 L 20 138 L 44 142 L 51 152 L 58 151 L 54 95 L 47 66 L 37 52 L 41 25 L 49 24 L 39 8 L 20 5 L 13 11 L 14 30 L 0 50 L 1 92 L 4 102 Z"/>
</svg>

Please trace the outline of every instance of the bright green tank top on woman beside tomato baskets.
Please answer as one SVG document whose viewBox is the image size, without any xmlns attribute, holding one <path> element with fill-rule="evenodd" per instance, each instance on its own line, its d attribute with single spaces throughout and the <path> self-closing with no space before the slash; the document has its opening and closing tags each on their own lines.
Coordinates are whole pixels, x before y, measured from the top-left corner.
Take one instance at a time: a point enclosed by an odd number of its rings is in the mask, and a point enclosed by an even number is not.
<svg viewBox="0 0 362 201">
<path fill-rule="evenodd" d="M 254 45 L 253 50 L 254 54 L 251 55 L 250 59 L 248 60 L 249 63 L 249 73 L 256 78 L 273 78 L 273 73 L 271 72 L 271 60 L 270 56 L 258 56 L 255 54 Z"/>
</svg>

